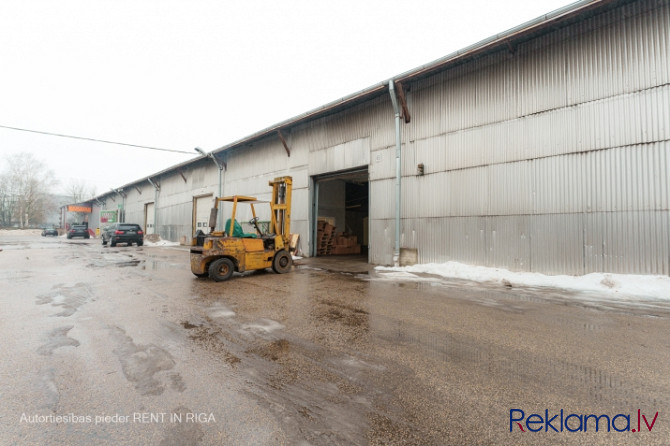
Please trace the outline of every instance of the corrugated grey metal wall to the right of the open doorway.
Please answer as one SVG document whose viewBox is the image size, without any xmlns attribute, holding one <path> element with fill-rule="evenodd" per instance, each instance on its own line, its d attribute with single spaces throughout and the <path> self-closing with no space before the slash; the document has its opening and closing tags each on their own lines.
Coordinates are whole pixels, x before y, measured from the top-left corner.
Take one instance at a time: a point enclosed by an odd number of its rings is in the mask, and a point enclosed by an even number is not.
<svg viewBox="0 0 670 446">
<path fill-rule="evenodd" d="M 669 274 L 669 52 L 668 2 L 641 1 L 412 84 L 401 246 L 422 263 Z M 388 264 L 379 154 L 370 257 Z"/>
</svg>

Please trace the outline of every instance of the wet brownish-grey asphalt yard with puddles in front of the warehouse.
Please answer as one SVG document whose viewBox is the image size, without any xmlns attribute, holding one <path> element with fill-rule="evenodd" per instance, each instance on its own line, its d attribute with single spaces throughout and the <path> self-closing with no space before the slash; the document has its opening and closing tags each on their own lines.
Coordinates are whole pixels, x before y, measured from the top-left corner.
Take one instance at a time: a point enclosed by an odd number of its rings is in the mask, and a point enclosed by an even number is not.
<svg viewBox="0 0 670 446">
<path fill-rule="evenodd" d="M 324 259 L 215 283 L 185 247 L 0 248 L 1 445 L 670 444 L 665 301 Z M 561 410 L 628 430 L 560 432 Z"/>
</svg>

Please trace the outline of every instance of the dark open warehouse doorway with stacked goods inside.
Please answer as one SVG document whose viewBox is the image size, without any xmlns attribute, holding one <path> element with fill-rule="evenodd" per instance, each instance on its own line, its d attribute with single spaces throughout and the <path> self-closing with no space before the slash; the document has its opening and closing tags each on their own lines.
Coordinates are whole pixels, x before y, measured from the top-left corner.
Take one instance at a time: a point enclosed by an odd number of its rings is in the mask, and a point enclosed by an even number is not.
<svg viewBox="0 0 670 446">
<path fill-rule="evenodd" d="M 360 256 L 367 261 L 368 170 L 314 177 L 312 256 Z"/>
</svg>

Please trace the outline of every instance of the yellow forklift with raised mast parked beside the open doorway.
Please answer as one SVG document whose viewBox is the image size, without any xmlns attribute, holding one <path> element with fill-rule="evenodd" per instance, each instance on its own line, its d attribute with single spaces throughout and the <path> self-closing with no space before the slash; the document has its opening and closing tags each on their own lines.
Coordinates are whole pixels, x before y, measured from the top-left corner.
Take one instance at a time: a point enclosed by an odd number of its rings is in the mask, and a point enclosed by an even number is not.
<svg viewBox="0 0 670 446">
<path fill-rule="evenodd" d="M 270 181 L 272 201 L 256 197 L 234 195 L 217 197 L 209 217 L 209 234 L 198 230 L 191 241 L 191 272 L 198 277 L 209 276 L 222 282 L 230 279 L 234 271 L 245 272 L 272 268 L 278 274 L 291 270 L 293 258 L 289 248 L 291 232 L 291 190 L 293 179 L 280 177 Z M 230 219 L 223 231 L 215 231 L 219 204 L 233 204 Z M 258 225 L 254 205 L 270 204 L 270 224 L 266 232 Z M 249 221 L 256 233 L 245 233 L 235 220 L 238 204 L 251 206 L 253 218 Z"/>
</svg>

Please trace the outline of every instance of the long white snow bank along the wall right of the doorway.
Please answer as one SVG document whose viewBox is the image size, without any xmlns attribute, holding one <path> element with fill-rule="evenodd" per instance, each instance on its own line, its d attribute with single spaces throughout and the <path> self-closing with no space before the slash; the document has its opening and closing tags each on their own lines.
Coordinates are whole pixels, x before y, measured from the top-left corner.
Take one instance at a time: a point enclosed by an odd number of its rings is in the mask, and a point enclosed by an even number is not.
<svg viewBox="0 0 670 446">
<path fill-rule="evenodd" d="M 621 298 L 652 298 L 670 300 L 670 277 L 631 274 L 591 273 L 584 276 L 548 276 L 539 273 L 512 272 L 503 268 L 464 265 L 458 262 L 426 263 L 399 268 L 378 266 L 381 277 L 401 280 L 425 280 L 416 274 L 497 282 L 512 287 L 551 287 L 571 291 L 605 293 Z M 399 273 L 403 273 L 398 276 Z M 413 277 L 412 277 L 413 276 Z"/>
</svg>

